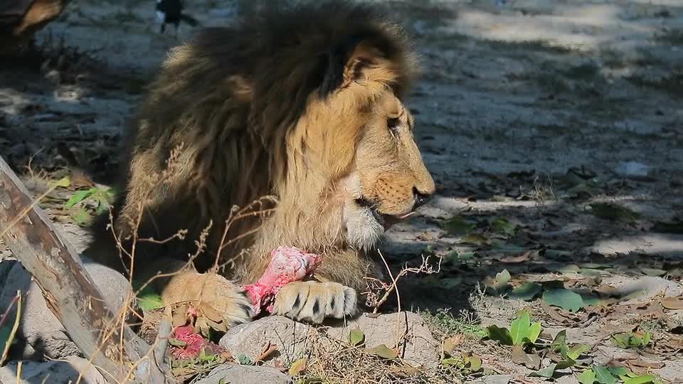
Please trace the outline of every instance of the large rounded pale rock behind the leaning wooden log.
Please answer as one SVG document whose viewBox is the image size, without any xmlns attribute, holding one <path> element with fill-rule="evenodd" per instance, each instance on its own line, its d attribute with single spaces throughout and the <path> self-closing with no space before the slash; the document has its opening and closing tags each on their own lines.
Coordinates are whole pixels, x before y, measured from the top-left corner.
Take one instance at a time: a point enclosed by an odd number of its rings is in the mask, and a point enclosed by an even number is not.
<svg viewBox="0 0 683 384">
<path fill-rule="evenodd" d="M 132 288 L 128 280 L 119 272 L 99 265 L 83 258 L 85 270 L 95 281 L 105 300 L 118 311 Z M 15 359 L 41 359 L 43 355 L 50 358 L 64 358 L 78 355 L 80 352 L 65 333 L 65 329 L 55 315 L 48 309 L 43 293 L 38 285 L 31 280 L 20 263 L 16 263 L 7 275 L 7 282 L 0 294 L 0 308 L 6 308 L 16 295 L 16 291 L 23 292 L 23 309 L 18 336 L 26 341 L 23 351 L 13 351 L 18 356 Z M 14 319 L 16 311 L 11 311 L 10 319 Z M 21 344 L 20 344 L 21 345 Z"/>
</svg>

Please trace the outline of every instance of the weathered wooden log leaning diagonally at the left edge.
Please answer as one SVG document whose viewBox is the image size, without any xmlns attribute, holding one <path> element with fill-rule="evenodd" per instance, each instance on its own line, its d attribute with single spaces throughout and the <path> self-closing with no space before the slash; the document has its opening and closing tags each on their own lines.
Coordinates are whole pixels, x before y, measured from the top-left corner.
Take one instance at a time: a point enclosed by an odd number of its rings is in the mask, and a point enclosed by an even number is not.
<svg viewBox="0 0 683 384">
<path fill-rule="evenodd" d="M 72 245 L 0 156 L 0 235 L 81 352 L 112 383 L 173 383 L 166 340 L 152 349 L 107 307 Z M 169 326 L 160 334 L 169 334 Z M 163 336 L 163 335 L 162 335 Z"/>
</svg>

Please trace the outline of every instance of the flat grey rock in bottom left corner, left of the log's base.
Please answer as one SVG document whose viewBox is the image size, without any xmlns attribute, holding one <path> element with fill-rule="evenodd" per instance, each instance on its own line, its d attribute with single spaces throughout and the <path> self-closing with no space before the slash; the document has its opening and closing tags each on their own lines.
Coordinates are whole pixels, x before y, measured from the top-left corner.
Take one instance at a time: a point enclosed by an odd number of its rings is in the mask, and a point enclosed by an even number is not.
<svg viewBox="0 0 683 384">
<path fill-rule="evenodd" d="M 17 362 L 11 361 L 0 367 L 0 383 L 75 383 L 80 372 L 83 371 L 83 384 L 106 384 L 105 378 L 93 366 L 88 366 L 88 360 L 78 356 L 68 356 L 61 361 L 24 361 L 21 364 L 21 380 L 16 377 Z M 86 368 L 87 367 L 87 368 Z"/>
</svg>

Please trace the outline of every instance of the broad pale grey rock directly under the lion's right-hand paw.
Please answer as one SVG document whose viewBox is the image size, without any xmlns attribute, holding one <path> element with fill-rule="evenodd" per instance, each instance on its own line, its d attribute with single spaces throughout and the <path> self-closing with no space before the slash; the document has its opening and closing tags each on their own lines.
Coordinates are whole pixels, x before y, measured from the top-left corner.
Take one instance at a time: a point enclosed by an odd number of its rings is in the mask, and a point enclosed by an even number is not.
<svg viewBox="0 0 683 384">
<path fill-rule="evenodd" d="M 268 316 L 233 327 L 219 343 L 233 356 L 244 354 L 252 359 L 260 355 L 268 343 L 272 343 L 277 346 L 285 361 L 292 361 L 295 356 L 306 351 L 310 345 L 309 338 L 314 332 L 324 332 L 332 338 L 348 341 L 351 329 L 361 329 L 364 332 L 367 348 L 380 344 L 392 348 L 396 345 L 397 335 L 406 333 L 406 350 L 403 356 L 406 362 L 416 366 L 436 366 L 439 362 L 439 343 L 425 326 L 422 317 L 412 312 L 401 312 L 401 316 L 383 314 L 376 319 L 364 314 L 358 319 L 347 321 L 346 326 L 342 322 L 338 326 L 320 329 L 283 316 Z M 272 364 L 270 361 L 268 363 Z"/>
</svg>

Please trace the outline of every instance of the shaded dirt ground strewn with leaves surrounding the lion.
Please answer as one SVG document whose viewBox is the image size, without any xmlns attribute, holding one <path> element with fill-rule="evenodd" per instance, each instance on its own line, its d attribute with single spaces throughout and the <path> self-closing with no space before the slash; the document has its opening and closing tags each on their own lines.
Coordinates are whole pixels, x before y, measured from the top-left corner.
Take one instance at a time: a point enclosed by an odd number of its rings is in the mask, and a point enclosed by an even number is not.
<svg viewBox="0 0 683 384">
<path fill-rule="evenodd" d="M 469 335 L 456 351 L 513 382 L 546 379 L 476 335 L 509 328 L 528 308 L 548 336 L 566 329 L 568 341 L 590 344 L 594 364 L 626 362 L 683 383 L 683 310 L 658 301 L 683 292 L 682 2 L 379 2 L 422 58 L 408 105 L 438 187 L 381 245 L 397 270 L 443 257 L 439 273 L 403 279 L 403 307 L 423 311 L 439 336 Z M 220 25 L 240 4 L 196 0 L 188 13 Z M 176 40 L 173 28 L 158 29 L 152 1 L 73 1 L 39 34 L 36 60 L 0 64 L 0 154 L 36 193 L 68 173 L 65 146 L 111 183 L 144 84 L 192 33 L 181 26 Z M 63 208 L 64 193 L 41 205 L 82 250 L 87 218 Z M 487 280 L 503 270 L 509 279 Z M 512 298 L 527 282 L 539 283 L 539 297 Z M 545 294 L 558 282 L 602 301 L 551 306 Z M 610 342 L 645 331 L 644 348 Z M 576 382 L 560 376 L 547 380 Z"/>
</svg>

